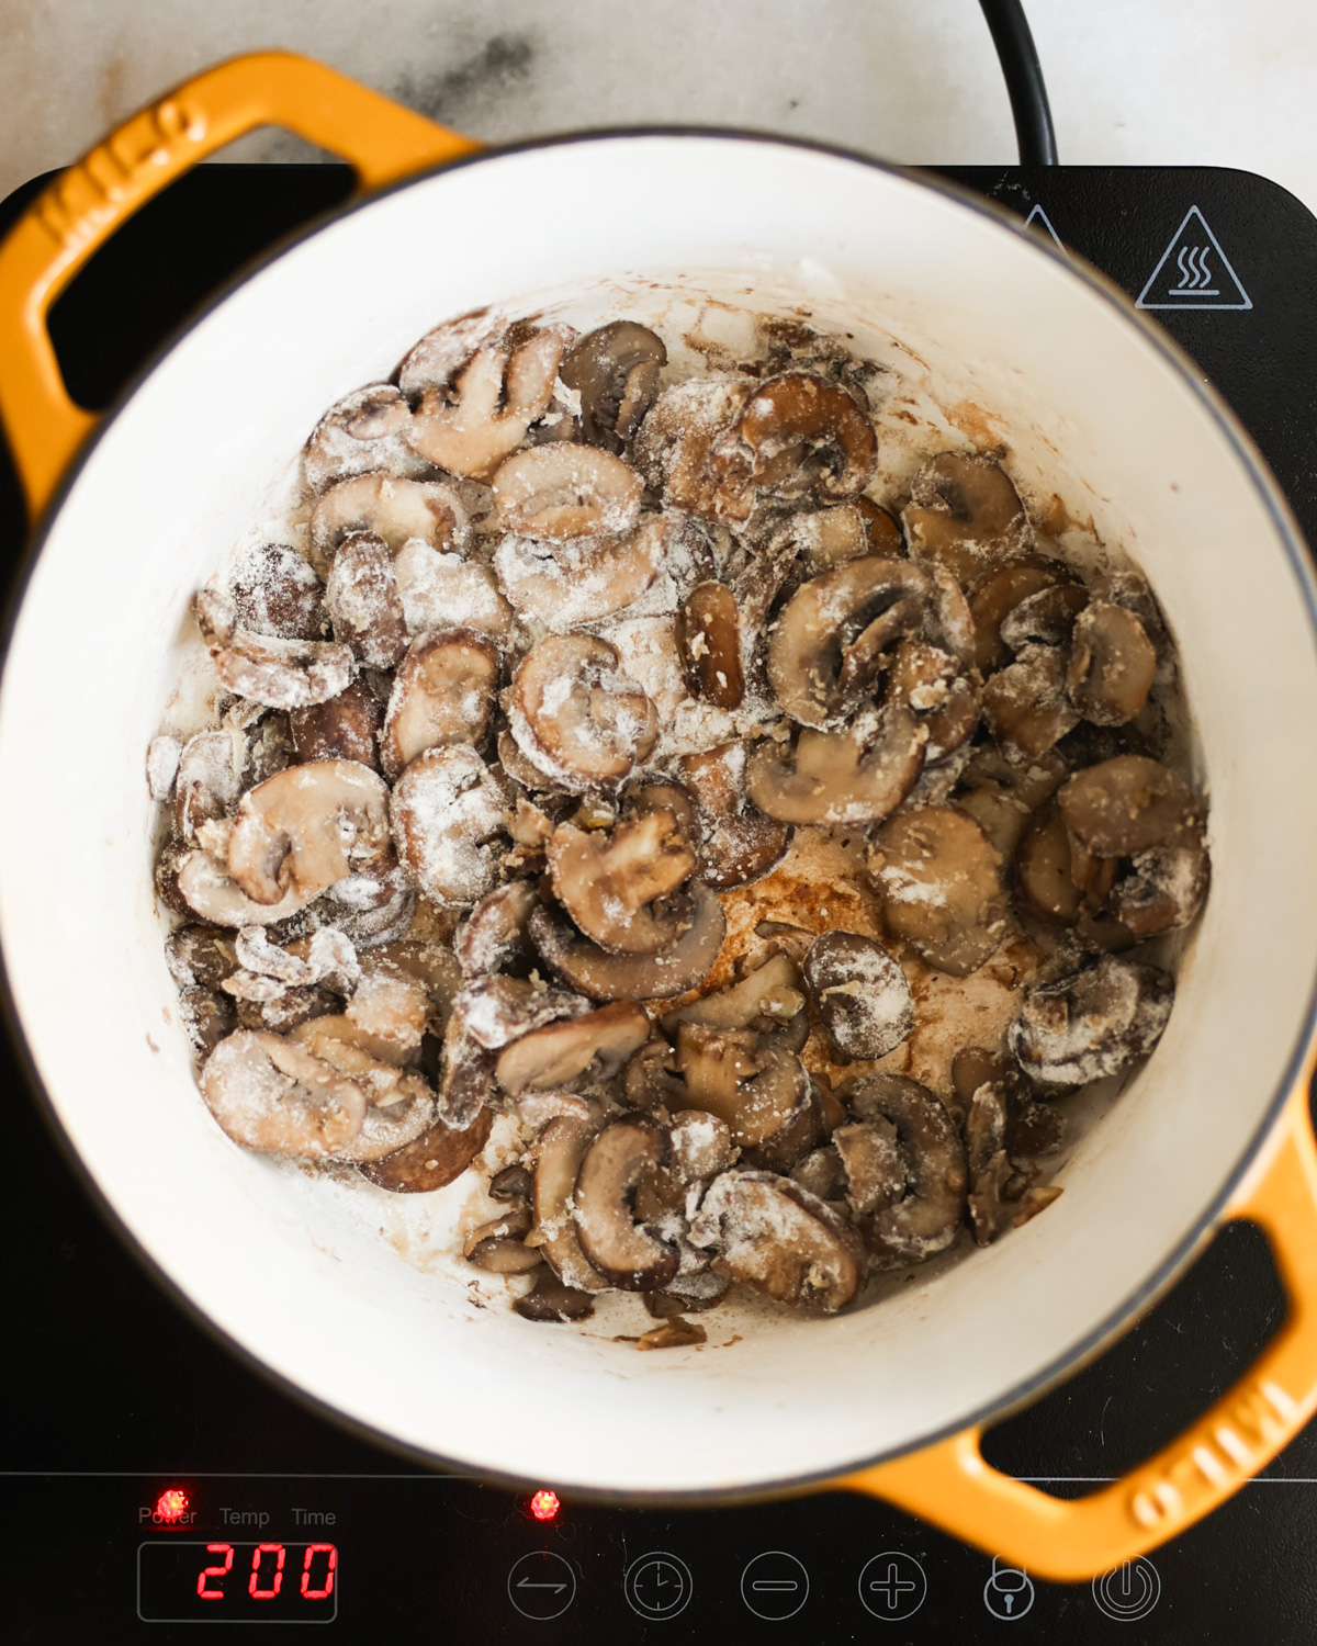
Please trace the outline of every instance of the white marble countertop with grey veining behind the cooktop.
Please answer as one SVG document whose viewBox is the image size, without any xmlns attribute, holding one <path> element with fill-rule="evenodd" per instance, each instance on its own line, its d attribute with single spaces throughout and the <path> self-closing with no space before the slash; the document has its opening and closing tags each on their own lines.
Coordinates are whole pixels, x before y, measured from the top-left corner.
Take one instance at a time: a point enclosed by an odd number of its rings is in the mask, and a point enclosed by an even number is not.
<svg viewBox="0 0 1317 1646">
<path fill-rule="evenodd" d="M 1062 161 L 1258 171 L 1317 212 L 1317 7 L 1026 0 Z M 976 0 L 0 0 L 0 194 L 237 51 L 323 58 L 487 140 L 705 122 L 1014 158 Z M 260 133 L 242 158 L 301 158 Z"/>
</svg>

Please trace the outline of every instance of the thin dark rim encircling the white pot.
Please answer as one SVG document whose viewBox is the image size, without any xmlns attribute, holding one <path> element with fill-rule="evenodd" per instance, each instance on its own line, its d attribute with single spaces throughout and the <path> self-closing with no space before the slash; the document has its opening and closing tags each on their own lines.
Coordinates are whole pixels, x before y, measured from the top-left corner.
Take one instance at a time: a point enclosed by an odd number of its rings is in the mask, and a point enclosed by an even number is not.
<svg viewBox="0 0 1317 1646">
<path fill-rule="evenodd" d="M 1207 382 L 1200 372 L 1192 356 L 1189 356 L 1167 332 L 1162 331 L 1149 316 L 1141 313 L 1131 298 L 1115 285 L 1101 270 L 1095 268 L 1091 263 L 1075 258 L 1067 252 L 1050 245 L 1039 235 L 1029 234 L 1024 222 L 1016 212 L 1008 211 L 996 201 L 976 194 L 971 189 L 963 188 L 958 183 L 938 176 L 935 173 L 925 171 L 917 166 L 904 166 L 894 161 L 876 160 L 871 155 L 864 155 L 858 150 L 846 148 L 840 143 L 815 142 L 810 138 L 782 137 L 774 132 L 762 132 L 751 127 L 711 127 L 711 125 L 637 125 L 637 127 L 599 127 L 599 128 L 583 128 L 566 133 L 551 133 L 547 137 L 525 138 L 512 143 L 500 143 L 496 146 L 477 150 L 476 153 L 459 156 L 458 160 L 444 161 L 435 166 L 423 166 L 405 178 L 385 184 L 384 188 L 372 189 L 369 194 L 354 194 L 347 201 L 326 212 L 318 214 L 309 222 L 300 226 L 290 234 L 280 237 L 265 252 L 255 257 L 235 275 L 222 281 L 178 328 L 175 328 L 170 336 L 156 346 L 147 357 L 147 360 L 130 375 L 123 388 L 114 397 L 114 400 L 104 408 L 95 428 L 91 431 L 87 439 L 79 448 L 77 454 L 69 463 L 64 474 L 59 477 L 58 486 L 51 492 L 41 515 L 35 522 L 28 542 L 23 546 L 18 565 L 13 571 L 10 586 L 5 593 L 3 616 L 0 616 L 0 691 L 3 691 L 5 673 L 8 668 L 10 644 L 13 640 L 13 632 L 18 622 L 18 614 L 23 606 L 23 597 L 28 589 L 28 583 L 35 571 L 36 561 L 40 560 L 41 550 L 49 537 L 54 525 L 56 515 L 59 514 L 64 499 L 72 491 L 77 482 L 84 466 L 91 459 L 97 444 L 100 443 L 105 431 L 110 428 L 119 413 L 133 398 L 145 380 L 155 372 L 161 360 L 202 321 L 206 321 L 214 309 L 221 306 L 234 291 L 244 286 L 247 281 L 262 273 L 267 267 L 282 258 L 286 252 L 301 245 L 305 240 L 313 239 L 323 229 L 336 224 L 354 212 L 372 206 L 375 201 L 402 193 L 417 183 L 428 181 L 441 173 L 464 170 L 468 166 L 481 165 L 489 160 L 500 160 L 510 155 L 537 153 L 548 148 L 571 148 L 579 143 L 601 143 L 601 142 L 627 142 L 634 138 L 696 138 L 696 140 L 716 140 L 729 143 L 756 143 L 756 145 L 772 145 L 779 148 L 803 150 L 807 153 L 825 155 L 835 160 L 851 161 L 866 166 L 871 171 L 881 171 L 889 176 L 899 178 L 904 183 L 912 183 L 917 188 L 928 189 L 933 194 L 940 194 L 950 199 L 953 204 L 965 207 L 980 217 L 986 217 L 1001 227 L 1009 229 L 1021 239 L 1026 239 L 1032 249 L 1055 263 L 1060 263 L 1073 278 L 1087 285 L 1096 296 L 1105 300 L 1110 308 L 1115 308 L 1119 316 L 1133 324 L 1144 337 L 1144 341 L 1161 354 L 1164 362 L 1179 375 L 1182 384 L 1194 392 L 1197 400 L 1202 403 L 1205 412 L 1210 415 L 1212 421 L 1220 430 L 1226 444 L 1231 448 L 1238 458 L 1241 467 L 1245 469 L 1248 479 L 1251 481 L 1254 491 L 1259 495 L 1266 514 L 1271 517 L 1276 535 L 1284 548 L 1286 558 L 1289 560 L 1291 570 L 1296 574 L 1299 589 L 1302 593 L 1304 611 L 1307 614 L 1309 624 L 1309 640 L 1312 642 L 1314 652 L 1317 652 L 1317 574 L 1314 573 L 1310 553 L 1304 538 L 1304 533 L 1289 507 L 1276 477 L 1258 449 L 1253 438 L 1248 435 L 1245 426 L 1240 423 L 1235 412 L 1230 408 L 1226 400 L 1220 392 Z M 3 953 L 3 945 L 0 945 L 0 1021 L 8 1034 L 10 1045 L 13 1047 L 18 1065 L 26 1078 L 28 1088 L 31 1090 L 38 1113 L 43 1116 L 48 1131 L 53 1134 L 56 1147 L 59 1149 L 64 1160 L 72 1167 L 74 1175 L 81 1179 L 82 1188 L 89 1193 L 92 1205 L 100 1213 L 102 1220 L 119 1238 L 120 1244 L 128 1251 L 128 1254 L 147 1271 L 151 1281 L 160 1287 L 173 1302 L 176 1302 L 183 1314 L 188 1315 L 196 1325 L 199 1325 L 221 1348 L 227 1353 L 235 1355 L 242 1363 L 255 1369 L 267 1383 L 273 1384 L 280 1393 L 298 1401 L 301 1406 L 313 1411 L 316 1416 L 324 1417 L 336 1427 L 347 1430 L 357 1439 L 364 1439 L 369 1444 L 380 1447 L 384 1450 L 393 1452 L 395 1455 L 417 1462 L 431 1473 L 453 1473 L 459 1476 L 468 1476 L 472 1472 L 454 1458 L 443 1457 L 436 1452 L 430 1452 L 423 1447 L 410 1445 L 408 1442 L 398 1440 L 384 1430 L 375 1429 L 347 1412 L 339 1411 L 329 1402 L 319 1399 L 318 1396 L 308 1393 L 283 1373 L 268 1366 L 258 1355 L 247 1348 L 244 1343 L 232 1338 L 224 1328 L 221 1328 L 204 1310 L 194 1302 L 156 1262 L 155 1256 L 140 1244 L 137 1236 L 127 1228 L 120 1220 L 119 1213 L 109 1203 L 100 1185 L 92 1177 L 91 1167 L 82 1160 L 72 1146 L 67 1132 L 64 1131 L 54 1103 L 46 1091 L 44 1081 L 36 1072 L 36 1062 L 33 1058 L 31 1049 L 28 1045 L 26 1032 L 23 1029 L 21 1019 L 18 1016 L 13 991 L 8 978 L 8 960 Z M 1184 1271 L 1195 1259 L 1198 1251 L 1207 1244 L 1217 1225 L 1223 1221 L 1223 1213 L 1230 1202 L 1233 1200 L 1240 1183 L 1248 1174 L 1250 1167 L 1258 1157 L 1263 1144 L 1276 1128 L 1281 1116 L 1281 1109 L 1297 1081 L 1302 1076 L 1304 1062 L 1309 1047 L 1317 1037 L 1317 981 L 1314 981 L 1307 1007 L 1304 1011 L 1302 1022 L 1299 1025 L 1297 1037 L 1291 1049 L 1289 1058 L 1284 1065 L 1284 1075 L 1273 1091 L 1263 1118 L 1253 1132 L 1248 1146 L 1238 1155 L 1235 1165 L 1226 1174 L 1225 1180 L 1218 1187 L 1217 1193 L 1208 1200 L 1208 1203 L 1200 1211 L 1198 1218 L 1194 1221 L 1190 1230 L 1180 1238 L 1180 1241 L 1167 1253 L 1154 1272 L 1136 1287 L 1118 1307 L 1110 1310 L 1098 1323 L 1095 1323 L 1078 1343 L 1072 1345 L 1063 1353 L 1054 1356 L 1045 1366 L 1035 1371 L 1032 1376 L 1021 1379 L 1014 1388 L 1011 1388 L 998 1401 L 971 1412 L 968 1417 L 956 1419 L 945 1427 L 922 1434 L 902 1445 L 889 1447 L 887 1450 L 877 1452 L 871 1457 L 859 1457 L 846 1465 L 848 1472 L 861 1472 L 874 1468 L 881 1463 L 889 1463 L 899 1457 L 907 1457 L 910 1453 L 922 1452 L 938 1442 L 948 1440 L 956 1434 L 978 1430 L 994 1422 L 1001 1422 L 1012 1412 L 1032 1404 L 1035 1399 L 1049 1393 L 1052 1388 L 1063 1383 L 1068 1376 L 1082 1369 L 1091 1360 L 1103 1353 L 1103 1350 L 1113 1343 L 1118 1337 L 1128 1332 L 1152 1305 L 1179 1281 Z M 500 1470 L 479 1470 L 476 1475 L 479 1480 L 491 1481 L 499 1486 L 510 1488 L 514 1491 L 524 1491 L 532 1486 L 543 1485 L 543 1481 L 530 1480 L 527 1476 L 504 1473 Z M 575 1486 L 570 1481 L 561 1481 L 555 1485 L 563 1485 L 571 1491 L 573 1498 L 581 1503 L 603 1503 L 603 1504 L 621 1504 L 621 1506 L 637 1506 L 637 1508 L 657 1508 L 660 1504 L 672 1506 L 703 1506 L 708 1508 L 718 1503 L 754 1503 L 772 1498 L 780 1498 L 787 1495 L 803 1493 L 810 1490 L 826 1488 L 830 1483 L 840 1486 L 843 1476 L 838 1476 L 835 1470 L 823 1470 L 818 1473 L 802 1473 L 787 1475 L 780 1480 L 756 1481 L 752 1486 L 718 1486 L 703 1488 L 691 1491 L 627 1491 L 626 1488 L 598 1488 L 598 1486 Z"/>
</svg>

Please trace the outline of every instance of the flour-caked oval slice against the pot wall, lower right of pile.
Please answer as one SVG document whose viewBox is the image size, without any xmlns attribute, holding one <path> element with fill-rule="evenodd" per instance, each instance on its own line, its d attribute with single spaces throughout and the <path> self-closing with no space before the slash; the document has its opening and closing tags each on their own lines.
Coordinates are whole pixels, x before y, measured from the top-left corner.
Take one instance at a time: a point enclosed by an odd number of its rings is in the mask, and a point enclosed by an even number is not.
<svg viewBox="0 0 1317 1646">
<path fill-rule="evenodd" d="M 1175 999 L 1156 966 L 1106 955 L 1059 983 L 1029 989 L 1008 1045 L 1026 1075 L 1050 1086 L 1085 1086 L 1147 1057 Z"/>
</svg>

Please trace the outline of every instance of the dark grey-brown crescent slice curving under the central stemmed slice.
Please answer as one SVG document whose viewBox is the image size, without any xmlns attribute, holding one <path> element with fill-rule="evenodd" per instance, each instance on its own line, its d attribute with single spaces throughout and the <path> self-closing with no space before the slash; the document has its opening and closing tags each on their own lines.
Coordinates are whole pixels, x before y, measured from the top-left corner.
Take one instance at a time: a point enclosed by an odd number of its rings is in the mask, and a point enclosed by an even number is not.
<svg viewBox="0 0 1317 1646">
<path fill-rule="evenodd" d="M 714 894 L 693 881 L 690 897 L 690 928 L 658 955 L 611 955 L 581 937 L 566 915 L 543 905 L 527 930 L 556 976 L 589 999 L 662 999 L 703 983 L 726 937 L 728 922 Z"/>
</svg>

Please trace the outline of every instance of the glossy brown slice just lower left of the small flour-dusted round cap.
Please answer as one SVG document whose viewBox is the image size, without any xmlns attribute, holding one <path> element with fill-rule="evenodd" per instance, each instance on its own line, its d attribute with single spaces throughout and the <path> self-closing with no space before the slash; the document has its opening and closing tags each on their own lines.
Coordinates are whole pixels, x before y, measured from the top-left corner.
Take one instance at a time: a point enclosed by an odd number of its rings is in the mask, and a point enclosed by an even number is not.
<svg viewBox="0 0 1317 1646">
<path fill-rule="evenodd" d="M 668 1108 L 673 1113 L 700 1109 L 716 1114 L 728 1124 L 739 1149 L 772 1137 L 810 1093 L 810 1076 L 798 1057 L 766 1045 L 744 1029 L 678 1024 L 677 1068 L 685 1081 L 685 1096 L 670 1098 Z"/>
</svg>

